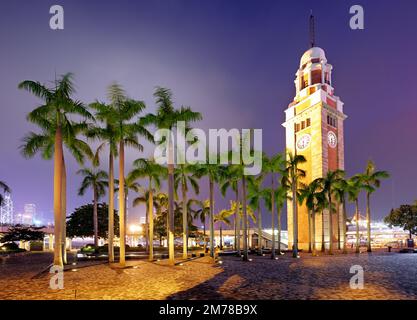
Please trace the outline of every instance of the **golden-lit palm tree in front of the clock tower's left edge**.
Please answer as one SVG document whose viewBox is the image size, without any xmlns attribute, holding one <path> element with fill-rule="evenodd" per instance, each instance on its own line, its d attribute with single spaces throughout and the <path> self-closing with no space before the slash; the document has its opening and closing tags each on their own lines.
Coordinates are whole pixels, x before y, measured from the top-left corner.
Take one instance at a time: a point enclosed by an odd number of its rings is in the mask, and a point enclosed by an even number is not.
<svg viewBox="0 0 417 320">
<path fill-rule="evenodd" d="M 293 213 L 293 258 L 298 258 L 298 206 L 297 206 L 297 189 L 298 182 L 301 178 L 306 176 L 306 172 L 299 168 L 300 164 L 305 163 L 307 160 L 303 155 L 293 155 L 288 153 L 285 174 L 283 175 L 283 185 L 291 189 L 291 202 Z"/>
</svg>

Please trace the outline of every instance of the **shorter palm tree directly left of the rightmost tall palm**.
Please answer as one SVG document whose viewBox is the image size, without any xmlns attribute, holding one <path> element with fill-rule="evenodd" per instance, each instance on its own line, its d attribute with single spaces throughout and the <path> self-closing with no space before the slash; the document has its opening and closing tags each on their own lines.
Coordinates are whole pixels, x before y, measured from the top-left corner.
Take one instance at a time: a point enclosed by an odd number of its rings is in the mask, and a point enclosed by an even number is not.
<svg viewBox="0 0 417 320">
<path fill-rule="evenodd" d="M 134 168 L 129 173 L 129 180 L 136 180 L 140 178 L 148 179 L 148 190 L 145 197 L 138 197 L 133 201 L 133 205 L 137 205 L 142 200 L 147 203 L 146 208 L 146 234 L 147 241 L 149 241 L 149 261 L 153 261 L 153 212 L 154 212 L 154 191 L 161 186 L 161 178 L 166 176 L 166 168 L 157 164 L 153 159 L 140 158 L 133 162 Z M 147 195 L 147 196 L 146 196 Z M 147 246 L 148 247 L 148 246 Z"/>
</svg>

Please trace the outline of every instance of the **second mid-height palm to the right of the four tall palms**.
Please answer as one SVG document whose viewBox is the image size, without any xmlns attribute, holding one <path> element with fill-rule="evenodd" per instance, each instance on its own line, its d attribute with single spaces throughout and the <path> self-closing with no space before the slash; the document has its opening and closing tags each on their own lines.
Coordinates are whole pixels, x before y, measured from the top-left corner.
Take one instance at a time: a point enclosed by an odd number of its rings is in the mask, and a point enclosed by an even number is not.
<svg viewBox="0 0 417 320">
<path fill-rule="evenodd" d="M 225 167 L 217 164 L 198 164 L 194 169 L 194 176 L 202 178 L 208 177 L 209 181 L 209 202 L 210 202 L 210 256 L 214 259 L 214 184 L 221 183 L 223 180 Z"/>
</svg>

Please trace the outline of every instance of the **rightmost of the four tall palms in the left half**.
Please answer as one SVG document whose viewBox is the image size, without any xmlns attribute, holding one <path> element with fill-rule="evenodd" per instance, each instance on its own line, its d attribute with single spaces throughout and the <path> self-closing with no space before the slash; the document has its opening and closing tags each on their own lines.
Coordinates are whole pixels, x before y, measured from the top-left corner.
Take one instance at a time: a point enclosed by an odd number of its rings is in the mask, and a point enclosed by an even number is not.
<svg viewBox="0 0 417 320">
<path fill-rule="evenodd" d="M 190 107 L 182 106 L 175 109 L 172 102 L 172 92 L 169 89 L 158 87 L 154 93 L 158 109 L 156 114 L 147 114 L 141 119 L 144 126 L 154 125 L 158 129 L 172 130 L 177 126 L 179 121 L 185 122 L 186 126 L 191 122 L 202 119 L 199 112 L 194 112 Z M 167 141 L 168 145 L 168 221 L 169 221 L 169 262 L 175 263 L 174 253 L 174 148 L 172 135 L 170 134 Z"/>
</svg>

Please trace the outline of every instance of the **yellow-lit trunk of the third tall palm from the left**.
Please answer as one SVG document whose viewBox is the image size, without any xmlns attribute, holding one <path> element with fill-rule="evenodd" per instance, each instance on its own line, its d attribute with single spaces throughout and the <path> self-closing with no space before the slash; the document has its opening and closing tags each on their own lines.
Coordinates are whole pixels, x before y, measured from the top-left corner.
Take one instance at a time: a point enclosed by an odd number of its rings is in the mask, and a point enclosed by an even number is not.
<svg viewBox="0 0 417 320">
<path fill-rule="evenodd" d="M 126 229 L 125 229 L 125 149 L 124 141 L 119 145 L 119 228 L 120 228 L 120 266 L 126 264 Z"/>
</svg>

